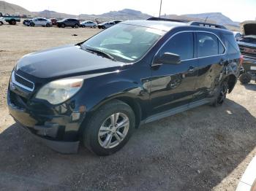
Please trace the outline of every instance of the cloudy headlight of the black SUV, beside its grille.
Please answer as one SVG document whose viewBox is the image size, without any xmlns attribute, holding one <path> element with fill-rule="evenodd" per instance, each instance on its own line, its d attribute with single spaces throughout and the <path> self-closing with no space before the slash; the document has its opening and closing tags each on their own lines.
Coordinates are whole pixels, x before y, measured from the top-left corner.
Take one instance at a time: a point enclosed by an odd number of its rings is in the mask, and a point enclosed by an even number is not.
<svg viewBox="0 0 256 191">
<path fill-rule="evenodd" d="M 44 85 L 36 98 L 49 101 L 50 104 L 60 104 L 75 95 L 82 85 L 83 79 L 59 79 Z"/>
</svg>

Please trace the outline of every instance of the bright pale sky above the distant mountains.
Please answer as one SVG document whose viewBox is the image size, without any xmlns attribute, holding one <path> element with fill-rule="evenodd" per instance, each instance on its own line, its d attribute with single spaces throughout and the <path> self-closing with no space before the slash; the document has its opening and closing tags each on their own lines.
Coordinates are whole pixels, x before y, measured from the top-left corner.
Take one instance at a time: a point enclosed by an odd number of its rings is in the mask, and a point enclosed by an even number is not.
<svg viewBox="0 0 256 191">
<path fill-rule="evenodd" d="M 160 0 L 6 0 L 29 11 L 44 9 L 69 14 L 101 14 L 120 9 L 136 9 L 149 15 L 159 15 Z M 162 14 L 184 15 L 203 12 L 222 12 L 234 21 L 255 20 L 256 0 L 162 0 Z"/>
</svg>

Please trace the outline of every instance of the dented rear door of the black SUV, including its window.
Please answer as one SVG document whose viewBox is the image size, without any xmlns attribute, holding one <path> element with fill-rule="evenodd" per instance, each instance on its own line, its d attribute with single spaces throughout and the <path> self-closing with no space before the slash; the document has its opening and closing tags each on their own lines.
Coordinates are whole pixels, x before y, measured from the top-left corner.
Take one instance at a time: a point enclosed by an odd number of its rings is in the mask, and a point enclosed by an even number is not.
<svg viewBox="0 0 256 191">
<path fill-rule="evenodd" d="M 198 78 L 193 101 L 214 96 L 221 71 L 228 62 L 226 48 L 216 34 L 196 32 Z"/>
</svg>

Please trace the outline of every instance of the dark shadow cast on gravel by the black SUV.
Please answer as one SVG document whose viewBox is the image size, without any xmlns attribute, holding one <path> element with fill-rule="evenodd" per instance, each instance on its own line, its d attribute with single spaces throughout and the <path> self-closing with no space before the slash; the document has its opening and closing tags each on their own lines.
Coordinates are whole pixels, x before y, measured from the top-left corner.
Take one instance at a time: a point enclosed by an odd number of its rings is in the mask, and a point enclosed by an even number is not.
<svg viewBox="0 0 256 191">
<path fill-rule="evenodd" d="M 135 130 L 108 157 L 80 147 L 61 155 L 16 124 L 0 134 L 0 185 L 7 190 L 212 190 L 255 149 L 256 119 L 227 99 Z M 238 181 L 238 180 L 237 180 Z"/>
</svg>

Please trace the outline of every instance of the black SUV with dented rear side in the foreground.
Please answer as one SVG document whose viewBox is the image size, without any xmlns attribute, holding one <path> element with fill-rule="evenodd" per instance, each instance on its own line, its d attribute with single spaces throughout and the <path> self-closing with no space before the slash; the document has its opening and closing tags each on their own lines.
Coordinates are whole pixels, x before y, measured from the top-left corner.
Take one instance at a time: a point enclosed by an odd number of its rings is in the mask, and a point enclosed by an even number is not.
<svg viewBox="0 0 256 191">
<path fill-rule="evenodd" d="M 140 124 L 221 105 L 240 61 L 223 27 L 126 21 L 85 42 L 25 55 L 7 101 L 12 117 L 53 149 L 76 152 L 81 141 L 110 155 Z"/>
</svg>

